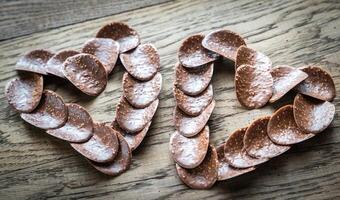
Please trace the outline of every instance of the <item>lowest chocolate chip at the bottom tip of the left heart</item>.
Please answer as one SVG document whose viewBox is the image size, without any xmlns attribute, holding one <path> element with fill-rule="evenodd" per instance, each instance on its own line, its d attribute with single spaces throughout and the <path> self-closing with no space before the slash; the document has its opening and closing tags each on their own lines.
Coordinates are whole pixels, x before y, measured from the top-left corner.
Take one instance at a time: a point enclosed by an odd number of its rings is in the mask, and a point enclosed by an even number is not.
<svg viewBox="0 0 340 200">
<path fill-rule="evenodd" d="M 124 137 L 116 133 L 119 140 L 119 150 L 113 161 L 107 163 L 98 163 L 90 161 L 90 164 L 98 171 L 110 175 L 117 176 L 130 168 L 131 165 L 131 149 Z"/>
</svg>

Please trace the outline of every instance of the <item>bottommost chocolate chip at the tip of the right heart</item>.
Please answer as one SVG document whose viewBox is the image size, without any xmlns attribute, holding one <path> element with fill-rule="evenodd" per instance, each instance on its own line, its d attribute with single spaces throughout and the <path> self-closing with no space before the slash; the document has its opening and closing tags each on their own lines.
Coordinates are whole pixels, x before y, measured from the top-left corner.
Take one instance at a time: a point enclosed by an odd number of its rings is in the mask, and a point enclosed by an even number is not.
<svg viewBox="0 0 340 200">
<path fill-rule="evenodd" d="M 176 164 L 179 178 L 193 189 L 211 188 L 217 180 L 218 160 L 215 147 L 209 146 L 203 162 L 196 168 L 185 169 Z"/>
</svg>

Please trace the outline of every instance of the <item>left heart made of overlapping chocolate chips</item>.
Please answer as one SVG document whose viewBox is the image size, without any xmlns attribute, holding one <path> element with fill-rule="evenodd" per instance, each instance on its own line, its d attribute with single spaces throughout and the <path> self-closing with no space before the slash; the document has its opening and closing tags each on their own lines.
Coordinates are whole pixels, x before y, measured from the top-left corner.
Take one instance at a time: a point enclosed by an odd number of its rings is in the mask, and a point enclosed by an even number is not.
<svg viewBox="0 0 340 200">
<path fill-rule="evenodd" d="M 85 108 L 44 90 L 44 79 L 54 75 L 87 95 L 98 96 L 118 56 L 127 72 L 112 123 L 94 122 Z M 162 86 L 159 69 L 157 49 L 140 44 L 138 33 L 128 25 L 113 22 L 102 27 L 80 52 L 34 50 L 24 55 L 16 65 L 19 78 L 7 84 L 6 96 L 24 121 L 69 142 L 97 170 L 115 176 L 130 167 L 132 151 L 151 125 Z"/>
</svg>

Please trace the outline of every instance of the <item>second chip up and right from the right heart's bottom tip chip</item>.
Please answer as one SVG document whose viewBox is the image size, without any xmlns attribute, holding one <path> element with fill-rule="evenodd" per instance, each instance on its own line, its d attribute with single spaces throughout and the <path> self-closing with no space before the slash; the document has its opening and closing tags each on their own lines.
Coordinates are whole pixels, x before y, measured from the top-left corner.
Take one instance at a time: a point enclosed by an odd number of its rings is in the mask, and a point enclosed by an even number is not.
<svg viewBox="0 0 340 200">
<path fill-rule="evenodd" d="M 225 141 L 224 156 L 232 167 L 249 168 L 266 162 L 267 158 L 255 158 L 247 154 L 243 139 L 247 128 L 241 128 L 232 133 Z"/>
</svg>

